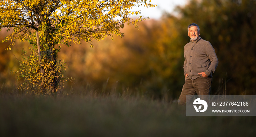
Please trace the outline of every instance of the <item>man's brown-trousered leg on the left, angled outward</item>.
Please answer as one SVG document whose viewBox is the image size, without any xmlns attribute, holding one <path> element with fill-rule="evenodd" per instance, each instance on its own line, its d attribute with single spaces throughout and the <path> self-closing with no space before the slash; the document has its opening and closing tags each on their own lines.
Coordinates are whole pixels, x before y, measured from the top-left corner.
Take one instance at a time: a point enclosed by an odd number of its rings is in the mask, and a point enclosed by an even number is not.
<svg viewBox="0 0 256 137">
<path fill-rule="evenodd" d="M 190 98 L 186 98 L 186 95 L 196 94 L 192 81 L 193 80 L 189 79 L 188 77 L 185 78 L 185 84 L 182 87 L 182 91 L 178 99 L 178 105 L 185 105 L 186 102 L 190 101 Z"/>
</svg>

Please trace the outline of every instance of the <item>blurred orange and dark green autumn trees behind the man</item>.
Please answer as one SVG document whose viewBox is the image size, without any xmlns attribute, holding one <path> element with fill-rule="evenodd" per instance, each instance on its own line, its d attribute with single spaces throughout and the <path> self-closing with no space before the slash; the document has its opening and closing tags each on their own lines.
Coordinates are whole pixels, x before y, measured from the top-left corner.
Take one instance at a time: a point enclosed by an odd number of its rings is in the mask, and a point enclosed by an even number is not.
<svg viewBox="0 0 256 137">
<path fill-rule="evenodd" d="M 117 93 L 149 98 L 176 99 L 184 84 L 183 47 L 189 42 L 187 26 L 196 23 L 201 37 L 215 48 L 219 65 L 213 75 L 212 95 L 256 94 L 256 1 L 191 0 L 135 26 L 125 26 L 124 38 L 94 41 L 71 47 L 61 46 L 59 59 L 67 62 L 66 92 Z M 0 31 L 0 40 L 7 36 Z M 29 43 L 1 43 L 0 82 L 10 91 L 15 88 L 21 48 Z M 82 93 L 81 93 L 82 94 Z"/>
</svg>

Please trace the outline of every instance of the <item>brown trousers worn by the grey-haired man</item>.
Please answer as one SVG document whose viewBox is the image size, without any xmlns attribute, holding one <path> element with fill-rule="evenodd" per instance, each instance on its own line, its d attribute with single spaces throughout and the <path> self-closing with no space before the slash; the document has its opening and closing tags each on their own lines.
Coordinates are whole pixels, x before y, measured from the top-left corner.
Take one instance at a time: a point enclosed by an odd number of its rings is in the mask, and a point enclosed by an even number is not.
<svg viewBox="0 0 256 137">
<path fill-rule="evenodd" d="M 189 102 L 191 97 L 186 98 L 186 95 L 210 95 L 212 78 L 199 77 L 196 79 L 185 78 L 185 84 L 182 87 L 180 98 L 178 99 L 179 105 L 185 105 Z"/>
</svg>

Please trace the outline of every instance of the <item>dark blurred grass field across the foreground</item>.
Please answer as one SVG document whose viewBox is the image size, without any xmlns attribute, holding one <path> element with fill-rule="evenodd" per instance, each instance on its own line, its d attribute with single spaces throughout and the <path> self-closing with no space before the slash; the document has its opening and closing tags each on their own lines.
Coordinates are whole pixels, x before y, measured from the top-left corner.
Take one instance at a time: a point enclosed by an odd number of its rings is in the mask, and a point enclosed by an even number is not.
<svg viewBox="0 0 256 137">
<path fill-rule="evenodd" d="M 1 92 L 1 137 L 254 137 L 256 133 L 256 117 L 189 117 L 185 106 L 170 101 Z"/>
</svg>

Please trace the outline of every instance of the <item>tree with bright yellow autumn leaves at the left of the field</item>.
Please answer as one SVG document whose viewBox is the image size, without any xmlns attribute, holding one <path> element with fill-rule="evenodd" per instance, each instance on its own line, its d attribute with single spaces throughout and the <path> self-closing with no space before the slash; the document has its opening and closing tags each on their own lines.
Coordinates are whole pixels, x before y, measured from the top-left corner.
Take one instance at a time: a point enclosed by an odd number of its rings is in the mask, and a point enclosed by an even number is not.
<svg viewBox="0 0 256 137">
<path fill-rule="evenodd" d="M 140 13 L 132 11 L 132 7 L 155 6 L 148 2 L 150 0 L 2 0 L 0 28 L 5 27 L 9 31 L 12 29 L 12 34 L 3 40 L 12 40 L 9 50 L 15 44 L 15 39 L 23 42 L 27 40 L 33 45 L 31 55 L 34 56 L 37 52 L 38 58 L 27 63 L 39 62 L 37 68 L 40 75 L 51 72 L 53 81 L 50 84 L 53 85 L 52 91 L 56 91 L 55 85 L 59 81 L 57 75 L 60 74 L 56 71 L 56 66 L 60 65 L 57 63 L 60 44 L 70 46 L 71 43 L 80 44 L 82 40 L 102 40 L 106 36 L 112 37 L 113 34 L 122 37 L 124 34 L 120 32 L 120 28 L 123 28 L 125 23 L 136 26 L 139 21 L 148 19 L 143 16 L 135 20 L 130 18 L 131 15 Z M 50 59 L 45 58 L 43 54 L 49 55 Z M 37 65 L 32 64 L 34 67 Z M 46 65 L 52 66 L 51 71 L 45 69 Z M 39 73 L 39 70 L 34 72 Z M 30 77 L 30 70 L 20 71 L 27 72 L 27 75 L 20 72 L 25 79 Z M 43 79 L 36 78 L 36 75 L 33 77 L 34 80 Z"/>
</svg>

